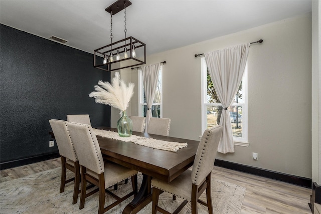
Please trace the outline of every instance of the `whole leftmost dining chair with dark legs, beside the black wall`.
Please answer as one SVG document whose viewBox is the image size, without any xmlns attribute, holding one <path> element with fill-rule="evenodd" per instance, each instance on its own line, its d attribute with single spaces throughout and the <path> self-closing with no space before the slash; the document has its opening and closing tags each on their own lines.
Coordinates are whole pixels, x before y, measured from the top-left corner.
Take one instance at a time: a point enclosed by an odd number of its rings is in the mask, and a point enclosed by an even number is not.
<svg viewBox="0 0 321 214">
<path fill-rule="evenodd" d="M 69 135 L 67 121 L 49 120 L 52 131 L 54 132 L 59 154 L 61 157 L 61 181 L 60 192 L 65 189 L 65 184 L 74 181 L 74 195 L 72 204 L 77 203 L 80 182 L 80 167 L 74 144 Z M 74 172 L 74 178 L 66 180 L 66 169 Z"/>
</svg>

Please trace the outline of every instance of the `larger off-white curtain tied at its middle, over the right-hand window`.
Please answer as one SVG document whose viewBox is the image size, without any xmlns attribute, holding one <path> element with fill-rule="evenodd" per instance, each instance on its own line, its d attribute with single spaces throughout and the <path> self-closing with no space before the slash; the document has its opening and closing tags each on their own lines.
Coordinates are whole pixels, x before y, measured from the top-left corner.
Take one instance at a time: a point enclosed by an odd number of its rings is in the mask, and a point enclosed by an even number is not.
<svg viewBox="0 0 321 214">
<path fill-rule="evenodd" d="M 250 44 L 205 53 L 205 60 L 212 78 L 216 94 L 223 105 L 220 125 L 223 133 L 217 151 L 234 152 L 234 142 L 230 112 L 244 73 Z"/>
</svg>

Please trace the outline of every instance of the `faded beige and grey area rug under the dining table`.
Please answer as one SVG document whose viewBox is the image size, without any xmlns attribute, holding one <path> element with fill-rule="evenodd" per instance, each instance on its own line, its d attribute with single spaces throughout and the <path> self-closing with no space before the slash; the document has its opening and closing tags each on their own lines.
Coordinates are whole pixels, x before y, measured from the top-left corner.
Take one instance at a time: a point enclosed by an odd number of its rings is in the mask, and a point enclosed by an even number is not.
<svg viewBox="0 0 321 214">
<path fill-rule="evenodd" d="M 73 183 L 67 183 L 65 191 L 59 193 L 61 168 L 51 169 L 37 174 L 29 175 L 0 183 L 0 213 L 97 213 L 98 193 L 86 198 L 85 207 L 79 209 L 79 200 L 72 204 Z M 67 170 L 67 177 L 72 177 L 73 173 Z M 140 186 L 142 175 L 138 174 L 138 187 Z M 122 196 L 131 189 L 130 179 L 127 184 L 118 184 L 118 190 L 113 190 L 115 194 Z M 212 202 L 214 213 L 240 213 L 246 188 L 226 181 L 212 178 Z M 205 199 L 205 193 L 201 198 Z M 121 213 L 123 208 L 133 199 L 133 196 L 108 210 L 106 213 Z M 110 204 L 114 199 L 106 195 L 106 204 Z M 177 197 L 172 199 L 172 195 L 164 192 L 159 196 L 159 206 L 173 212 L 183 200 Z M 199 213 L 208 213 L 207 207 L 198 204 Z M 151 213 L 151 202 L 138 212 L 139 214 Z M 191 213 L 191 204 L 188 203 L 180 213 Z"/>
</svg>

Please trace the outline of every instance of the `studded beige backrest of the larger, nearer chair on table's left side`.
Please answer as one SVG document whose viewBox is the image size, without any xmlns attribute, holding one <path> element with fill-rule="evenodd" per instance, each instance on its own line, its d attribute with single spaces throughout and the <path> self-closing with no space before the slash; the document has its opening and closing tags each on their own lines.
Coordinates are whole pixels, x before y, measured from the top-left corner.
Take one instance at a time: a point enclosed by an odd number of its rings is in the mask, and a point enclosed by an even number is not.
<svg viewBox="0 0 321 214">
<path fill-rule="evenodd" d="M 104 172 L 104 160 L 92 127 L 87 124 L 68 122 L 68 128 L 75 142 L 79 164 L 97 174 Z"/>
</svg>

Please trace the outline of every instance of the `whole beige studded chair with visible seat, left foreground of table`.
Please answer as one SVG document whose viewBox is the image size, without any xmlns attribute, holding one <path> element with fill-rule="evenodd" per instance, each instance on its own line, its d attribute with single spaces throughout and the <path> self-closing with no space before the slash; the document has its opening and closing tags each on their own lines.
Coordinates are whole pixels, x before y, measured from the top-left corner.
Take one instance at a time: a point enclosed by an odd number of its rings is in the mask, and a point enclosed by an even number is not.
<svg viewBox="0 0 321 214">
<path fill-rule="evenodd" d="M 137 193 L 137 171 L 118 165 L 113 162 L 104 162 L 99 148 L 98 140 L 90 125 L 68 123 L 71 138 L 76 142 L 75 148 L 81 168 L 81 194 L 80 205 L 85 205 L 85 198 L 99 191 L 98 213 L 104 213 L 131 195 Z M 131 177 L 132 191 L 122 198 L 110 192 L 107 188 Z M 96 185 L 98 188 L 86 193 L 86 183 Z M 105 192 L 116 199 L 105 207 Z"/>
</svg>

